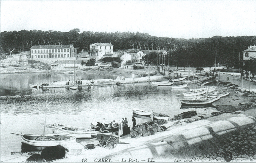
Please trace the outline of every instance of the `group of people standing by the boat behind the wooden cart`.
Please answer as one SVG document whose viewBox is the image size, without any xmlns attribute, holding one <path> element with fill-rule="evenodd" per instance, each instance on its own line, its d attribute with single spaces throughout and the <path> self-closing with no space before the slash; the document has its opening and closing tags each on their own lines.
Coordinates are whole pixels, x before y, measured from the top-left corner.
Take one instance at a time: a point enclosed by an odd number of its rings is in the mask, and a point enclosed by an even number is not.
<svg viewBox="0 0 256 163">
<path fill-rule="evenodd" d="M 108 124 L 106 124 L 105 122 L 105 118 L 103 118 L 103 128 L 106 128 L 108 126 Z M 132 126 L 134 127 L 136 125 L 136 119 L 134 118 L 134 116 L 132 116 Z M 117 123 L 115 120 L 110 122 L 110 131 L 113 132 L 114 128 L 118 127 L 118 136 L 124 136 L 124 135 L 128 135 L 131 133 L 130 127 L 128 126 L 128 120 L 127 118 L 122 118 L 121 121 L 119 121 L 119 123 Z"/>
</svg>

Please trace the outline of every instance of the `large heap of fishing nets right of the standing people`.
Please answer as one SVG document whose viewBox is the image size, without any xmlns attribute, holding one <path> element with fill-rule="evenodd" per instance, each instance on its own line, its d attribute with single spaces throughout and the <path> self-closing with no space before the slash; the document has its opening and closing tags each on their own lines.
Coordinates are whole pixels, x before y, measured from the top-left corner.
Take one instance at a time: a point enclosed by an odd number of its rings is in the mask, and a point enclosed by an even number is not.
<svg viewBox="0 0 256 163">
<path fill-rule="evenodd" d="M 165 123 L 167 123 L 166 120 L 159 119 L 159 120 L 146 122 L 143 124 L 137 124 L 131 130 L 131 134 L 130 134 L 131 138 L 149 136 L 149 135 L 155 134 L 156 132 L 160 132 L 161 131 L 160 125 Z"/>
</svg>

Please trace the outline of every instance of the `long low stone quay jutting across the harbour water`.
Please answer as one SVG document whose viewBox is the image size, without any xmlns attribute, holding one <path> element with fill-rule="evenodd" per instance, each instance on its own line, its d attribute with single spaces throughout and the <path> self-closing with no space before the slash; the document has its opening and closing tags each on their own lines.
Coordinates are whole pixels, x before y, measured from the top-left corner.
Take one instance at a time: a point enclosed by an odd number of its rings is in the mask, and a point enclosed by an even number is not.
<svg viewBox="0 0 256 163">
<path fill-rule="evenodd" d="M 78 87 L 84 86 L 97 86 L 97 85 L 112 85 L 116 84 L 117 82 L 124 82 L 125 84 L 128 83 L 138 83 L 138 82 L 147 82 L 147 81 L 161 81 L 164 80 L 165 76 L 146 76 L 146 77 L 134 77 L 134 78 L 125 78 L 124 80 L 121 79 L 96 79 L 96 80 L 82 80 L 82 84 L 77 85 Z M 93 82 L 93 83 L 92 83 Z M 67 81 L 55 81 L 47 86 L 39 86 L 39 88 L 64 88 L 69 87 L 70 85 L 66 85 Z"/>
</svg>

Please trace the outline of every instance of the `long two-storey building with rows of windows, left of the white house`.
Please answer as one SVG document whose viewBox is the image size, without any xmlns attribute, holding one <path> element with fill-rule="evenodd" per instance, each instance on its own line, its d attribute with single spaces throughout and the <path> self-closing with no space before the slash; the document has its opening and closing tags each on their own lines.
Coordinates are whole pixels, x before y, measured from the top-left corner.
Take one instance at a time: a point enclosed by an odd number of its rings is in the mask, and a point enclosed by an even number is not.
<svg viewBox="0 0 256 163">
<path fill-rule="evenodd" d="M 75 48 L 73 45 L 39 45 L 30 48 L 32 60 L 75 60 Z"/>
</svg>

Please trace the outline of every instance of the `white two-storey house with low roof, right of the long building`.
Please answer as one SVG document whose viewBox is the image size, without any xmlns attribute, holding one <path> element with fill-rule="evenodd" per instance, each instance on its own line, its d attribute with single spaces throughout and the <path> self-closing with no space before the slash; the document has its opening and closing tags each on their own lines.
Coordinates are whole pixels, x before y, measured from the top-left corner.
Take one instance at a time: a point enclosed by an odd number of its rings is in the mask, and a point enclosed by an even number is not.
<svg viewBox="0 0 256 163">
<path fill-rule="evenodd" d="M 100 60 L 104 54 L 113 54 L 113 45 L 111 43 L 92 43 L 90 45 L 90 56 L 96 56 Z"/>
</svg>

